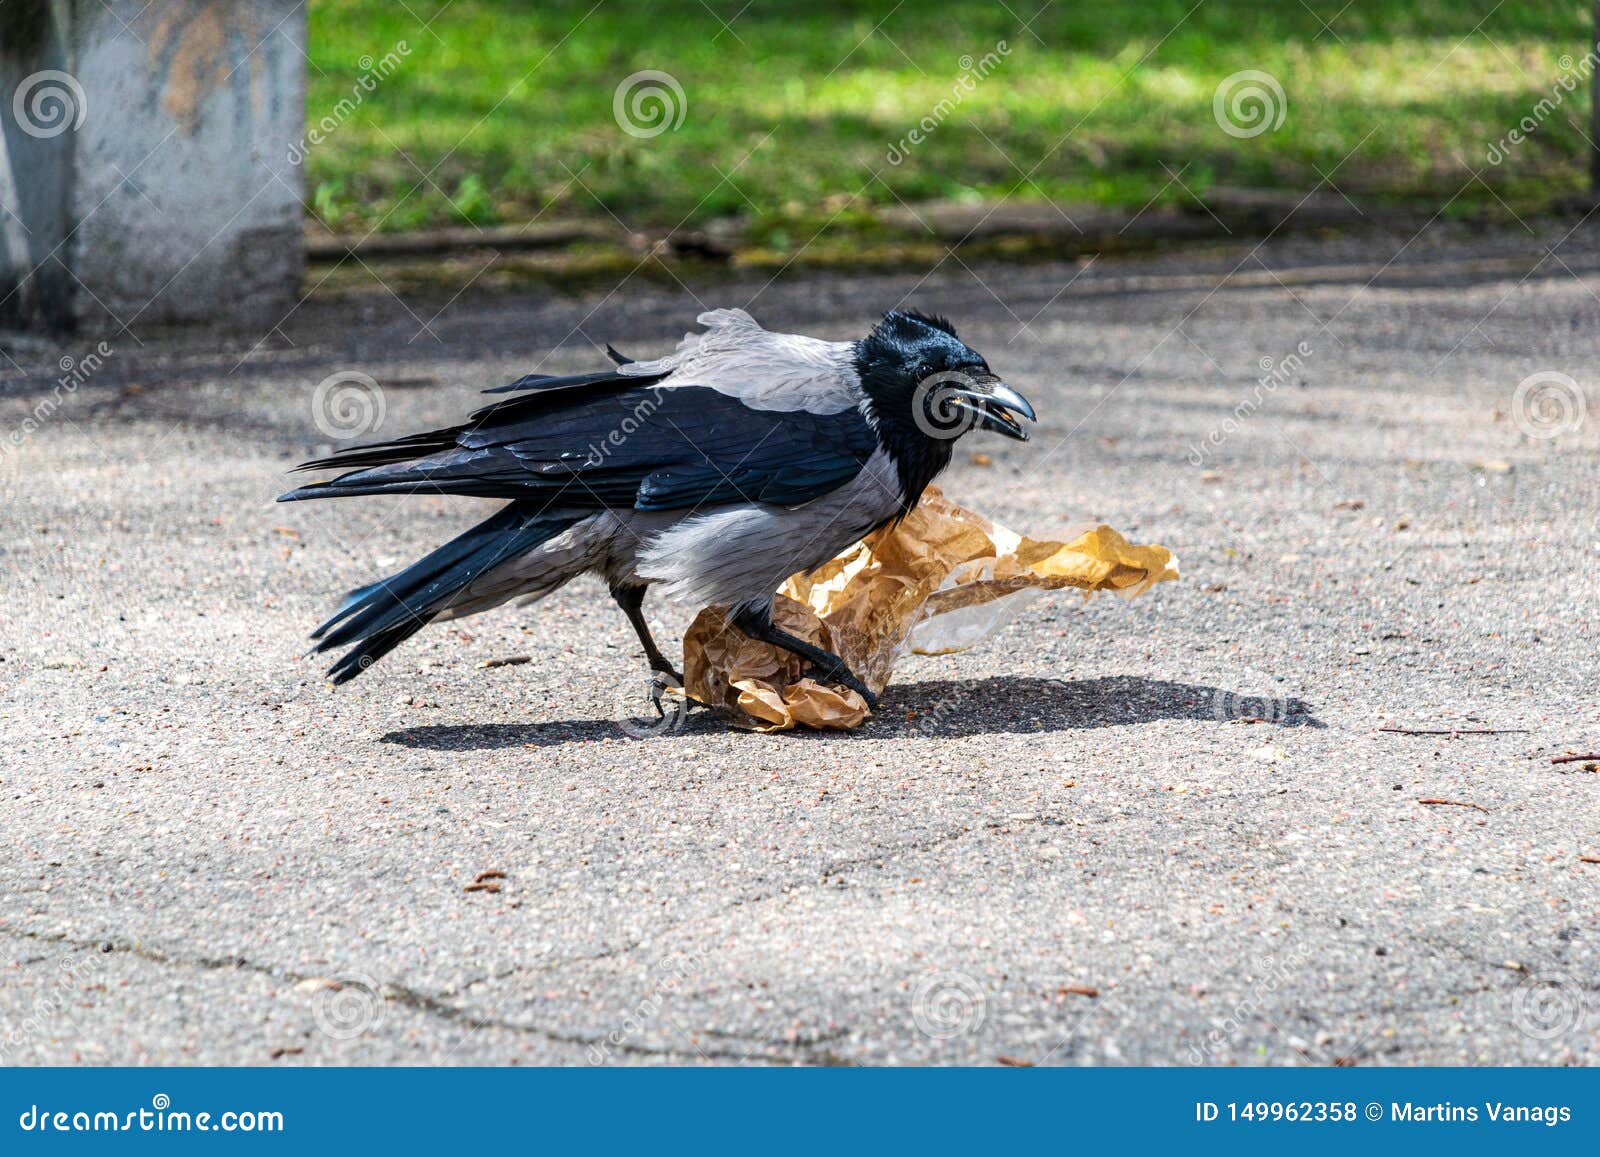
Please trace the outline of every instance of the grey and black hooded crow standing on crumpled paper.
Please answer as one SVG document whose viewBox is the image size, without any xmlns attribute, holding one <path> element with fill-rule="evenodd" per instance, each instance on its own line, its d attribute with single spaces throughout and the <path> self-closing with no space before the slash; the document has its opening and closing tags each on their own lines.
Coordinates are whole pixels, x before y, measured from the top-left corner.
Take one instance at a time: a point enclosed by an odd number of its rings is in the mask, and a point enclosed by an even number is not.
<svg viewBox="0 0 1600 1157">
<path fill-rule="evenodd" d="M 683 680 L 645 624 L 645 589 L 726 607 L 752 639 L 811 664 L 824 683 L 877 701 L 845 663 L 773 624 L 773 597 L 878 526 L 904 517 L 973 429 L 1027 440 L 1027 400 L 941 317 L 891 310 L 859 341 L 763 330 L 742 309 L 653 362 L 514 394 L 442 430 L 341 450 L 298 467 L 344 470 L 278 501 L 470 494 L 507 504 L 398 574 L 352 591 L 312 634 L 349 648 L 328 672 L 362 674 L 432 621 L 533 602 L 602 574 L 638 632 L 653 698 Z"/>
</svg>

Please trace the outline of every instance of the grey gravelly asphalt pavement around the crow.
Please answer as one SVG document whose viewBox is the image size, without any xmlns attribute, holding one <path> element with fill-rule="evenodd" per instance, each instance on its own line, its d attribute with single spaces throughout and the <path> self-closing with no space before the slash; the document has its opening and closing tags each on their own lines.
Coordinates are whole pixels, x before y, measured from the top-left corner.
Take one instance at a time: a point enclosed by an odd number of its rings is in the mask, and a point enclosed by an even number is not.
<svg viewBox="0 0 1600 1157">
<path fill-rule="evenodd" d="M 1592 229 L 685 282 L 5 339 L 0 1059 L 1595 1059 Z M 907 296 L 1042 419 L 947 493 L 1182 581 L 1035 599 L 853 735 L 635 738 L 590 581 L 299 658 L 486 507 L 274 506 L 294 462 L 702 306 Z"/>
</svg>

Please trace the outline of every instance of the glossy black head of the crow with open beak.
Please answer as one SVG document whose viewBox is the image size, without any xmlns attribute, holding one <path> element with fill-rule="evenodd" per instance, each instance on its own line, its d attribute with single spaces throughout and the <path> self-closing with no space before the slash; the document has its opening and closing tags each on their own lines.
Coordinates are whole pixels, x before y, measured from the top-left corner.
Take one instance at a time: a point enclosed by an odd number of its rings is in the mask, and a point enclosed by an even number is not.
<svg viewBox="0 0 1600 1157">
<path fill-rule="evenodd" d="M 942 317 L 890 310 L 856 342 L 856 373 L 910 502 L 949 466 L 955 440 L 968 430 L 1027 442 L 1013 414 L 1032 421 L 1034 406 Z"/>
</svg>

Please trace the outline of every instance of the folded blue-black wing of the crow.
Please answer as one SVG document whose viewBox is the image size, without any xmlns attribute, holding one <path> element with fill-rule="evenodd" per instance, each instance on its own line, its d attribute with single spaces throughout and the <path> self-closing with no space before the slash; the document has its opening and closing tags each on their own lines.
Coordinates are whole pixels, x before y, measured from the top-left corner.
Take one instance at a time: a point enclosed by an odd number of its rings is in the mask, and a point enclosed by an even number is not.
<svg viewBox="0 0 1600 1157">
<path fill-rule="evenodd" d="M 301 469 L 358 469 L 283 499 L 440 493 L 579 509 L 797 506 L 853 478 L 877 448 L 854 408 L 754 410 L 706 386 L 584 378 L 576 389 L 565 384 L 571 379 L 530 382 L 523 389 L 533 392 L 485 406 L 462 426 L 307 462 Z"/>
</svg>

